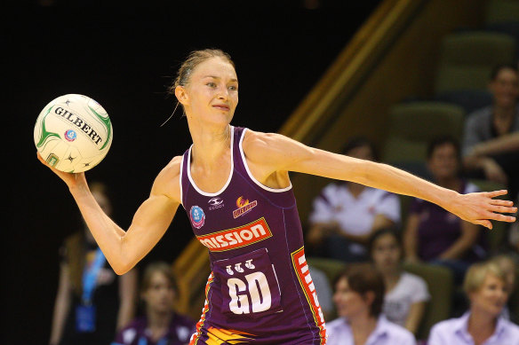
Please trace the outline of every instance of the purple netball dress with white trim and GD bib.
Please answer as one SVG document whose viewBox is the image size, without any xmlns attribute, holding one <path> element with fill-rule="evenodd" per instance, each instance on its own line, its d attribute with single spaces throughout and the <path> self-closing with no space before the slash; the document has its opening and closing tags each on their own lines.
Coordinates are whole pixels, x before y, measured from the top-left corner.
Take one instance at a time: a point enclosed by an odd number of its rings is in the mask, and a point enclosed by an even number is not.
<svg viewBox="0 0 519 345">
<path fill-rule="evenodd" d="M 190 344 L 324 344 L 291 186 L 268 188 L 252 176 L 245 132 L 231 126 L 231 173 L 219 192 L 196 186 L 191 148 L 180 167 L 182 204 L 209 250 L 212 271 Z"/>
</svg>

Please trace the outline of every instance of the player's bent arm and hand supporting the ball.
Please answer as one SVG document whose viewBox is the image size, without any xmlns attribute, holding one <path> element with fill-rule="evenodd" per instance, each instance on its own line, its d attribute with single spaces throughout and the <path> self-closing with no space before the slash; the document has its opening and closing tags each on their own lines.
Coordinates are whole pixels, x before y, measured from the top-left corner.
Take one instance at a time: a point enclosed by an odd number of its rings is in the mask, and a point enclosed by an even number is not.
<svg viewBox="0 0 519 345">
<path fill-rule="evenodd" d="M 39 154 L 38 159 L 47 165 Z M 84 221 L 117 274 L 124 274 L 139 263 L 172 223 L 180 205 L 180 160 L 181 157 L 173 158 L 156 176 L 148 199 L 137 209 L 128 231 L 103 212 L 88 188 L 84 173 L 69 174 L 51 168 L 68 185 Z"/>
</svg>

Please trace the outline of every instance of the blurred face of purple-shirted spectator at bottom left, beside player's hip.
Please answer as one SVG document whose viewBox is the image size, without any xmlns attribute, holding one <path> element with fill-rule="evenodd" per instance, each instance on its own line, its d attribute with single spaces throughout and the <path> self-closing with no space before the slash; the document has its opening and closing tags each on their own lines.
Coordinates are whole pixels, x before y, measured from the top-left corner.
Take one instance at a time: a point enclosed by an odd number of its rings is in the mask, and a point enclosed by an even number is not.
<svg viewBox="0 0 519 345">
<path fill-rule="evenodd" d="M 168 312 L 172 310 L 175 291 L 164 273 L 156 271 L 151 275 L 148 289 L 142 293 L 148 310 Z"/>
</svg>

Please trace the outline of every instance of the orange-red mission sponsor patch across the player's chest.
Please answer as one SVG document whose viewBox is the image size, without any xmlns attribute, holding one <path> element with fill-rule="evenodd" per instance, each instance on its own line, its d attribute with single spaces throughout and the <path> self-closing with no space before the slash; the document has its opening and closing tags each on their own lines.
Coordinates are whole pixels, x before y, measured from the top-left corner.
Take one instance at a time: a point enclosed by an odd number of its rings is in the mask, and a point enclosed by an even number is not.
<svg viewBox="0 0 519 345">
<path fill-rule="evenodd" d="M 272 237 L 272 231 L 268 228 L 264 217 L 237 228 L 196 236 L 212 252 L 223 252 L 249 246 L 270 237 Z"/>
</svg>

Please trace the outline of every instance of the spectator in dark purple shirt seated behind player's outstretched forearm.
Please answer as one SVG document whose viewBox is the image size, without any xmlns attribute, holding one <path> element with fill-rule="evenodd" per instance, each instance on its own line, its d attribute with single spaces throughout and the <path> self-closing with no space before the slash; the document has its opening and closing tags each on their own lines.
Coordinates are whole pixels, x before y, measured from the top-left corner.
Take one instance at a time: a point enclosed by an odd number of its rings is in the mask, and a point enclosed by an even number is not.
<svg viewBox="0 0 519 345">
<path fill-rule="evenodd" d="M 435 183 L 459 193 L 477 192 L 475 184 L 459 177 L 459 145 L 451 137 L 437 137 L 427 148 L 427 168 Z M 487 245 L 480 226 L 465 222 L 426 200 L 411 201 L 404 231 L 408 262 L 440 264 L 451 269 L 461 284 L 471 263 L 485 258 Z"/>
</svg>

